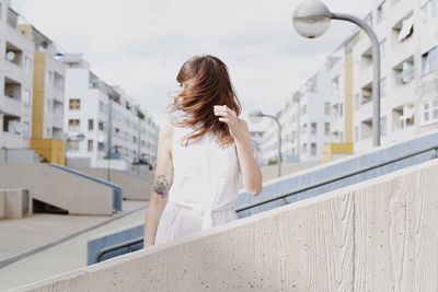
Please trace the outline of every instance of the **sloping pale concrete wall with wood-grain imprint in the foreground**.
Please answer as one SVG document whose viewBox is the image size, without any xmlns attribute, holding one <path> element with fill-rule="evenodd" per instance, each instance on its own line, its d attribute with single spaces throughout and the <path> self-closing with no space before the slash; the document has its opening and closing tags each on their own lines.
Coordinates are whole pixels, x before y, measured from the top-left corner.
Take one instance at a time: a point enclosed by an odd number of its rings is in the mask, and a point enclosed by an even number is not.
<svg viewBox="0 0 438 292">
<path fill-rule="evenodd" d="M 437 291 L 437 177 L 430 161 L 15 291 Z"/>
</svg>

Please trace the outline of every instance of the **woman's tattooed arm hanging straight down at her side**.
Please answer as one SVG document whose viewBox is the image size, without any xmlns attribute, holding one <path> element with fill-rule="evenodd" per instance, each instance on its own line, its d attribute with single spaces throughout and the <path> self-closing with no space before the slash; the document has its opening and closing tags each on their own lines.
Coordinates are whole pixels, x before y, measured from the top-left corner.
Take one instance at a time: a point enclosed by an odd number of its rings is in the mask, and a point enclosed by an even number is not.
<svg viewBox="0 0 438 292">
<path fill-rule="evenodd" d="M 155 233 L 161 213 L 168 202 L 169 189 L 173 180 L 173 164 L 171 145 L 173 128 L 171 125 L 160 130 L 157 150 L 157 168 L 153 178 L 153 191 L 145 217 L 143 246 L 151 246 L 155 242 Z"/>
</svg>

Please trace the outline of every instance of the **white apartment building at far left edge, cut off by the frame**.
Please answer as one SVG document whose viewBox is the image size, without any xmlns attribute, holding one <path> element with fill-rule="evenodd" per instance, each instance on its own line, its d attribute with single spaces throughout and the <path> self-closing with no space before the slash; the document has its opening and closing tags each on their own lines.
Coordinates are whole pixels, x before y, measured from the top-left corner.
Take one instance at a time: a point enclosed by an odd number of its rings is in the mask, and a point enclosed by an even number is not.
<svg viewBox="0 0 438 292">
<path fill-rule="evenodd" d="M 34 44 L 20 15 L 0 0 L 0 148 L 28 148 L 32 135 Z"/>
</svg>

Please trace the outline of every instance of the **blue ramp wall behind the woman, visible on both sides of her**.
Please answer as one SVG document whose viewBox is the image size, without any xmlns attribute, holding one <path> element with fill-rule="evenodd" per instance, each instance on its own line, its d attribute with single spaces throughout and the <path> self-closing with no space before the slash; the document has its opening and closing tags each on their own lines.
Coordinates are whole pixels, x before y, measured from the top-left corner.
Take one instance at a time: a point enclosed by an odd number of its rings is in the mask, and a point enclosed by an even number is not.
<svg viewBox="0 0 438 292">
<path fill-rule="evenodd" d="M 371 179 L 372 177 L 378 177 L 401 168 L 433 160 L 436 157 L 436 149 L 438 149 L 438 132 L 433 132 L 394 145 L 378 148 L 366 154 L 354 155 L 291 175 L 285 175 L 280 178 L 275 178 L 265 183 L 263 192 L 256 198 L 249 196 L 242 189 L 235 208 L 239 210 L 239 208 L 244 207 L 247 202 L 258 202 L 263 199 L 275 197 L 281 192 L 290 194 L 290 196 L 287 196 L 286 199 L 276 199 L 272 202 L 265 202 L 260 207 L 253 207 L 249 210 L 239 212 L 239 218 L 250 217 L 252 214 L 283 206 L 285 205 L 285 201 L 293 202 L 319 196 L 341 187 L 354 185 L 367 179 Z M 308 163 L 308 165 L 309 164 L 311 163 Z M 304 165 L 304 167 L 308 165 Z M 300 166 L 302 165 L 298 164 L 297 167 Z M 360 170 L 362 170 L 362 172 L 360 172 Z M 354 172 L 358 171 L 359 173 L 354 174 Z M 341 179 L 335 179 L 336 176 L 348 173 L 351 173 L 351 175 L 347 175 Z M 311 184 L 319 184 L 320 182 L 324 180 L 326 182 L 319 186 L 308 188 L 308 186 Z M 106 234 L 102 238 L 93 238 L 93 241 L 90 241 L 88 249 L 89 265 L 95 264 L 99 252 L 104 250 L 110 246 L 123 244 L 142 236 L 143 227 L 141 227 L 140 224 L 138 226 L 126 227 L 123 231 L 113 232 L 111 235 Z M 126 253 L 126 249 L 127 248 L 120 248 L 117 252 L 107 254 L 102 259 L 106 260 L 112 256 L 124 254 Z"/>
</svg>

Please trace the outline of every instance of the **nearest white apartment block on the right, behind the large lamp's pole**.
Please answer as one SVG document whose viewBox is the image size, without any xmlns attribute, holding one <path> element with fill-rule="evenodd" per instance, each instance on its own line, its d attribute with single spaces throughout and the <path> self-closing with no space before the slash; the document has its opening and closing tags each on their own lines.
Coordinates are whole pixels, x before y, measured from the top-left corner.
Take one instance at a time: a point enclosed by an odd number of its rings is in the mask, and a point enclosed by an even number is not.
<svg viewBox="0 0 438 292">
<path fill-rule="evenodd" d="M 381 144 L 438 128 L 438 1 L 380 1 L 367 15 L 381 49 Z M 372 149 L 371 46 L 353 48 L 355 152 Z"/>
</svg>

